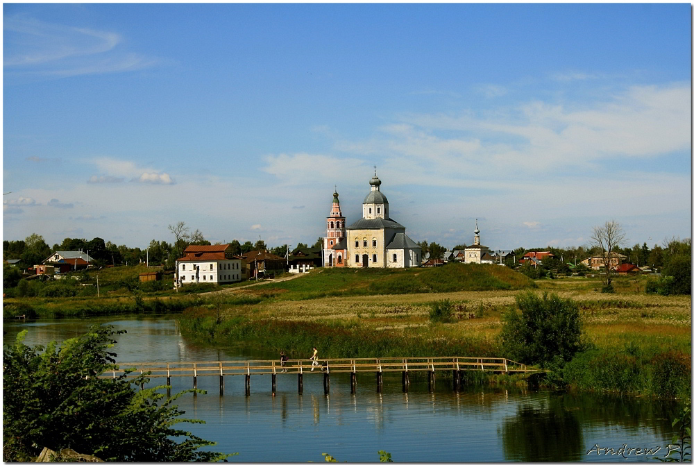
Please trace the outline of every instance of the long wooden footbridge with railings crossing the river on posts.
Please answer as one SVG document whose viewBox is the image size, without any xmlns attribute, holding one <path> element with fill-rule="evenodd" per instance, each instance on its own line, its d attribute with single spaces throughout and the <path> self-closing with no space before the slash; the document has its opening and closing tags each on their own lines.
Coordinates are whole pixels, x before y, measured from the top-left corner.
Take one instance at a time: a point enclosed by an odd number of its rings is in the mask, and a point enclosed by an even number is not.
<svg viewBox="0 0 694 465">
<path fill-rule="evenodd" d="M 251 375 L 271 375 L 272 391 L 276 391 L 278 375 L 298 376 L 298 392 L 303 393 L 303 375 L 323 374 L 323 390 L 330 393 L 330 373 L 350 373 L 352 394 L 357 391 L 357 373 L 375 374 L 376 389 L 383 387 L 383 373 L 398 371 L 403 373 L 403 391 L 409 387 L 409 373 L 426 371 L 430 391 L 434 390 L 437 371 L 451 371 L 453 389 L 459 390 L 464 382 L 466 371 L 484 371 L 488 373 L 538 373 L 541 370 L 527 367 L 525 364 L 505 358 L 496 357 L 407 357 L 407 358 L 339 358 L 321 359 L 319 364 L 311 360 L 287 360 L 285 364 L 276 360 L 232 360 L 227 362 L 139 362 L 137 364 L 120 363 L 119 369 L 106 372 L 103 377 L 116 378 L 127 373 L 129 378 L 141 374 L 146 378 L 167 378 L 171 386 L 172 377 L 192 378 L 193 388 L 198 387 L 198 376 L 218 376 L 219 394 L 224 394 L 224 377 L 244 375 L 246 378 L 246 396 L 251 394 Z"/>
</svg>

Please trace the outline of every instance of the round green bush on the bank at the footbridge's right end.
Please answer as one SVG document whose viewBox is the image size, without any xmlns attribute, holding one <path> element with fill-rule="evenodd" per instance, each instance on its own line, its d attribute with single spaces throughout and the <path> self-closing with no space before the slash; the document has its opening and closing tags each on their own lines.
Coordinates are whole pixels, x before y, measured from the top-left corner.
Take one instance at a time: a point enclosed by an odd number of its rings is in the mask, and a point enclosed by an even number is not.
<svg viewBox="0 0 694 465">
<path fill-rule="evenodd" d="M 531 291 L 516 296 L 518 310 L 502 314 L 500 343 L 507 357 L 544 366 L 555 357 L 571 360 L 581 348 L 578 306 L 570 299 Z"/>
</svg>

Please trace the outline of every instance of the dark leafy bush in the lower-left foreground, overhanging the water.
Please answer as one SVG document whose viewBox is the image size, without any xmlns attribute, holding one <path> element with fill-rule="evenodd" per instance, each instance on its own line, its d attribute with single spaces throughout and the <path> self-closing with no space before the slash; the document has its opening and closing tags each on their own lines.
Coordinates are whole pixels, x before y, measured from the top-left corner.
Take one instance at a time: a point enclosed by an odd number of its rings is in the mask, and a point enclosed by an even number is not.
<svg viewBox="0 0 694 465">
<path fill-rule="evenodd" d="M 29 462 L 46 446 L 71 448 L 116 462 L 219 461 L 228 457 L 199 451 L 214 443 L 173 428 L 183 412 L 155 389 L 133 389 L 131 381 L 99 378 L 114 366 L 109 351 L 117 334 L 92 326 L 81 337 L 45 350 L 23 343 L 3 348 L 3 459 Z M 188 392 L 188 391 L 185 391 Z M 204 393 L 204 391 L 198 391 Z M 184 394 L 184 393 L 181 393 Z"/>
</svg>

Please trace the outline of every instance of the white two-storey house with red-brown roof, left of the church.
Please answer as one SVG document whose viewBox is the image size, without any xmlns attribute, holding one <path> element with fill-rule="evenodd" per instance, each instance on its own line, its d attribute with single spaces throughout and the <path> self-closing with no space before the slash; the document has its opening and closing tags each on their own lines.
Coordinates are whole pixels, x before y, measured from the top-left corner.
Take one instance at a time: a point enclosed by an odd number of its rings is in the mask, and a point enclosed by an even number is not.
<svg viewBox="0 0 694 465">
<path fill-rule="evenodd" d="M 229 244 L 187 246 L 185 256 L 176 260 L 176 279 L 180 285 L 198 282 L 226 284 L 245 278 L 241 258 L 227 252 Z"/>
</svg>

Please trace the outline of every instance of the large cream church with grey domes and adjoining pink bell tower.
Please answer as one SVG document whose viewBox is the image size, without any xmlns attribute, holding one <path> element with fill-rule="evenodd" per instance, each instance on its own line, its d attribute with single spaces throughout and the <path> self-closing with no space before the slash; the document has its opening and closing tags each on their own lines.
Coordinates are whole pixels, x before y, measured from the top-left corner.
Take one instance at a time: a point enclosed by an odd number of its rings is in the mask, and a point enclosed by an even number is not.
<svg viewBox="0 0 694 465">
<path fill-rule="evenodd" d="M 422 249 L 405 234 L 405 226 L 389 216 L 388 199 L 373 170 L 371 190 L 362 202 L 362 219 L 345 226 L 337 192 L 323 239 L 323 266 L 350 268 L 418 267 Z"/>
</svg>

